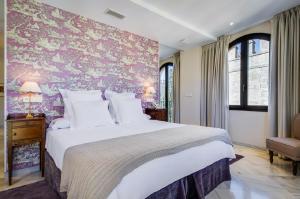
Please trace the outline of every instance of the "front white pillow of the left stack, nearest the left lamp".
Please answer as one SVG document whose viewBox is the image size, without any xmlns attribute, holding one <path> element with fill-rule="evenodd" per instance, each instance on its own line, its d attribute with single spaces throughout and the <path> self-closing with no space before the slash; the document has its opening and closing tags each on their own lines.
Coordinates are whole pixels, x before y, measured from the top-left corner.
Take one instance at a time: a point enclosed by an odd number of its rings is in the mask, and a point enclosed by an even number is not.
<svg viewBox="0 0 300 199">
<path fill-rule="evenodd" d="M 72 102 L 74 122 L 71 128 L 87 128 L 114 124 L 109 111 L 108 101 L 75 101 Z"/>
</svg>

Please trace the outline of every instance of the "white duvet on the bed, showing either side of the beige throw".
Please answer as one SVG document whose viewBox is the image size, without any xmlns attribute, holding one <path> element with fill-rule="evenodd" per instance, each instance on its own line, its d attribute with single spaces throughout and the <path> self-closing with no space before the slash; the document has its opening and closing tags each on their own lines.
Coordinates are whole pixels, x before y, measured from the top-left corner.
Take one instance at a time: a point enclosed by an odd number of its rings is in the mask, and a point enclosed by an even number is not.
<svg viewBox="0 0 300 199">
<path fill-rule="evenodd" d="M 46 148 L 61 170 L 65 151 L 72 146 L 114 137 L 176 128 L 181 124 L 148 120 L 130 125 L 112 125 L 85 129 L 47 130 Z M 223 131 L 212 128 L 212 131 Z M 126 175 L 109 199 L 143 199 L 172 182 L 199 171 L 223 158 L 235 158 L 231 145 L 214 141 L 177 154 L 157 158 Z"/>
</svg>

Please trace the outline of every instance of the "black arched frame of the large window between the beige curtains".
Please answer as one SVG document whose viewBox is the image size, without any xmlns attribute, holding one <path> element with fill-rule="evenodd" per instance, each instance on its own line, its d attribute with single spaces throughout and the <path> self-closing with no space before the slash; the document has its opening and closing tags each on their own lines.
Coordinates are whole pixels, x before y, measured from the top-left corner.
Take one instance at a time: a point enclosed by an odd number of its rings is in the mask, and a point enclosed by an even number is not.
<svg viewBox="0 0 300 199">
<path fill-rule="evenodd" d="M 228 50 L 236 44 L 241 43 L 241 81 L 240 81 L 240 102 L 241 105 L 229 105 L 229 110 L 268 112 L 268 106 L 248 105 L 248 41 L 251 39 L 262 39 L 269 41 L 269 54 L 271 53 L 271 35 L 267 33 L 253 33 L 242 36 L 229 44 Z M 270 55 L 269 55 L 270 71 Z"/>
</svg>

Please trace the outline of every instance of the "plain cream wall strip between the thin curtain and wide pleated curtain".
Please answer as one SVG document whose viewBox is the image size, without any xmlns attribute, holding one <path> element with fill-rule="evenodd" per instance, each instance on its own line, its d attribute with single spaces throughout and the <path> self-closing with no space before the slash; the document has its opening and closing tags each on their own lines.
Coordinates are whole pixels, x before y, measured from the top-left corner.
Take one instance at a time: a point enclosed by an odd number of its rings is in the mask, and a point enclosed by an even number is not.
<svg viewBox="0 0 300 199">
<path fill-rule="evenodd" d="M 180 122 L 200 124 L 201 47 L 180 52 Z"/>
</svg>

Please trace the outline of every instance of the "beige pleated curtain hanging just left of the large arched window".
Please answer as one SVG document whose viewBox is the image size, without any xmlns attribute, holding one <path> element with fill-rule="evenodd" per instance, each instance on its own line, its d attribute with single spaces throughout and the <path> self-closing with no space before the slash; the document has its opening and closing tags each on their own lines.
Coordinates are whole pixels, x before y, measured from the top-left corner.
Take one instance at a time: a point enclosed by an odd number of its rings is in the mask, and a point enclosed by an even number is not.
<svg viewBox="0 0 300 199">
<path fill-rule="evenodd" d="M 229 37 L 202 48 L 200 68 L 200 125 L 227 128 Z"/>
</svg>

